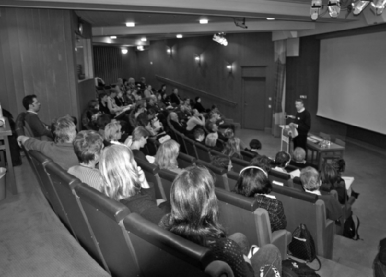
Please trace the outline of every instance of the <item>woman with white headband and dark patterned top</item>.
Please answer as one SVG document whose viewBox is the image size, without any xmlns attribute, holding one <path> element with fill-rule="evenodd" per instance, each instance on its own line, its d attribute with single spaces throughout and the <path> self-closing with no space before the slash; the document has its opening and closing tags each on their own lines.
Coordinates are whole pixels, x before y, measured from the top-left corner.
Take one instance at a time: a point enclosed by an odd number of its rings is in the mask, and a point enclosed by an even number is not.
<svg viewBox="0 0 386 277">
<path fill-rule="evenodd" d="M 243 196 L 257 199 L 258 207 L 266 210 L 269 214 L 272 232 L 284 230 L 287 227 L 283 203 L 275 196 L 270 195 L 272 184 L 264 169 L 258 166 L 248 166 L 242 169 L 234 191 Z"/>
</svg>

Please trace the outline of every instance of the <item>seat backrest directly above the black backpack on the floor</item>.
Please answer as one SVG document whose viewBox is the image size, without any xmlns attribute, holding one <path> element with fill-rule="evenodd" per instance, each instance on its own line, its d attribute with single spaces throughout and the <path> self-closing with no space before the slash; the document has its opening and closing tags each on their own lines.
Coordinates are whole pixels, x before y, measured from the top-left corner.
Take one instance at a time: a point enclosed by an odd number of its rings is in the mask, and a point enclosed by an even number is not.
<svg viewBox="0 0 386 277">
<path fill-rule="evenodd" d="M 326 218 L 323 200 L 318 200 L 314 194 L 276 185 L 273 185 L 272 194 L 283 203 L 287 230 L 293 232 L 300 223 L 306 224 L 315 241 L 317 255 L 331 259 L 335 226 Z"/>
</svg>

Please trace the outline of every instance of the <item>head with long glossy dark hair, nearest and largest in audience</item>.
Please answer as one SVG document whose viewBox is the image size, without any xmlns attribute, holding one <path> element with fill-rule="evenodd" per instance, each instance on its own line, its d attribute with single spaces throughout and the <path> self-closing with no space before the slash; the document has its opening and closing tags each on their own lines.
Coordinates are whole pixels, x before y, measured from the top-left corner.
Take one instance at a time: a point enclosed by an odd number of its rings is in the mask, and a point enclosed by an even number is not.
<svg viewBox="0 0 386 277">
<path fill-rule="evenodd" d="M 196 243 L 205 236 L 221 237 L 214 180 L 208 169 L 191 166 L 173 181 L 170 190 L 171 213 L 167 229 Z"/>
</svg>

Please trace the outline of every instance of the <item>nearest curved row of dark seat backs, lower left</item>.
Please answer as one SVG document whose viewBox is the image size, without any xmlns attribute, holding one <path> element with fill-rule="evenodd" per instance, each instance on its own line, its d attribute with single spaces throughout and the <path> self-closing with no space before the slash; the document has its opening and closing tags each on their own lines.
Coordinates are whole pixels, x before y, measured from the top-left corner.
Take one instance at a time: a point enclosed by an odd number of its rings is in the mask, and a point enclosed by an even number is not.
<svg viewBox="0 0 386 277">
<path fill-rule="evenodd" d="M 40 152 L 26 156 L 54 212 L 112 276 L 233 276 L 209 249 L 131 213 Z"/>
</svg>

